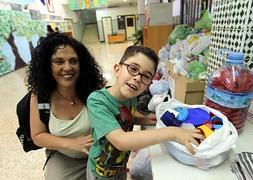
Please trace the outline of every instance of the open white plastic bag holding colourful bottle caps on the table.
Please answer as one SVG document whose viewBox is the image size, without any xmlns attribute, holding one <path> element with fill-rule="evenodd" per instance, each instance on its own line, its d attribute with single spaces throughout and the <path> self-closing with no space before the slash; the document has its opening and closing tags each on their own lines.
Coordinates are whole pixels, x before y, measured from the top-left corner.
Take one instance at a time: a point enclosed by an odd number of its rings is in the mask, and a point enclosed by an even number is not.
<svg viewBox="0 0 253 180">
<path fill-rule="evenodd" d="M 162 102 L 156 107 L 156 128 L 166 127 L 160 117 L 166 110 L 170 110 L 175 107 L 204 109 L 205 111 L 212 112 L 215 116 L 220 117 L 223 121 L 223 125 L 220 129 L 215 130 L 214 133 L 202 141 L 199 146 L 192 144 L 196 154 L 192 155 L 185 146 L 175 141 L 167 141 L 163 143 L 163 146 L 168 153 L 173 155 L 182 163 L 193 165 L 204 170 L 208 170 L 210 167 L 221 164 L 226 159 L 228 151 L 235 146 L 235 141 L 238 136 L 232 123 L 228 121 L 225 115 L 213 108 L 205 105 L 187 105 L 175 99 L 170 99 L 167 102 Z"/>
</svg>

